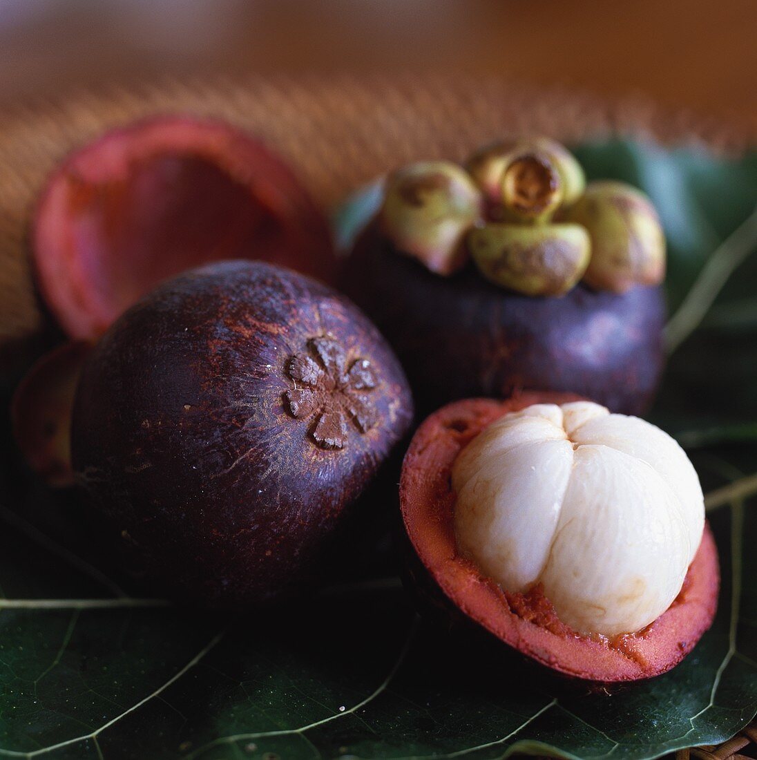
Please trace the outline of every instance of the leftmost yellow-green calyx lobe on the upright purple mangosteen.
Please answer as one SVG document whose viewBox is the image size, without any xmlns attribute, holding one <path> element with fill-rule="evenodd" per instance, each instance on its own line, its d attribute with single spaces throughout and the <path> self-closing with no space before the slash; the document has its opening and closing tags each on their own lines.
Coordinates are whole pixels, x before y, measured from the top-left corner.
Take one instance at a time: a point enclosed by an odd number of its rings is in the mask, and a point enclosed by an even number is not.
<svg viewBox="0 0 757 760">
<path fill-rule="evenodd" d="M 481 204 L 480 190 L 457 164 L 413 163 L 388 178 L 379 227 L 430 271 L 452 274 L 467 263 L 465 235 L 480 219 Z"/>
</svg>

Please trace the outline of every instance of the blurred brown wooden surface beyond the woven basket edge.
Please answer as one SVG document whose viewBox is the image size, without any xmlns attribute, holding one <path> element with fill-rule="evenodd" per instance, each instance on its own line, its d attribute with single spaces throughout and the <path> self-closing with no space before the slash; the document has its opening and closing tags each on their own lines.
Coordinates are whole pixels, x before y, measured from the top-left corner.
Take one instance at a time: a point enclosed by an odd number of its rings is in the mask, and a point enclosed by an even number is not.
<svg viewBox="0 0 757 760">
<path fill-rule="evenodd" d="M 498 74 L 757 135 L 754 0 L 0 0 L 0 106 L 214 71 Z"/>
</svg>

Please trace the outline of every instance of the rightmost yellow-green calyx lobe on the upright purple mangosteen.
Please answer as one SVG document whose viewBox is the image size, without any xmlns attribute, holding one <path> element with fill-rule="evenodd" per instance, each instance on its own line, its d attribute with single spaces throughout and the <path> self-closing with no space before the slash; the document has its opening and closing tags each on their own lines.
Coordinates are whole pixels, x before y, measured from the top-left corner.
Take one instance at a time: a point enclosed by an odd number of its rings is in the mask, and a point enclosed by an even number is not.
<svg viewBox="0 0 757 760">
<path fill-rule="evenodd" d="M 584 280 L 597 290 L 625 293 L 658 285 L 665 277 L 665 237 L 649 198 L 625 182 L 591 182 L 561 219 L 591 236 Z"/>
</svg>

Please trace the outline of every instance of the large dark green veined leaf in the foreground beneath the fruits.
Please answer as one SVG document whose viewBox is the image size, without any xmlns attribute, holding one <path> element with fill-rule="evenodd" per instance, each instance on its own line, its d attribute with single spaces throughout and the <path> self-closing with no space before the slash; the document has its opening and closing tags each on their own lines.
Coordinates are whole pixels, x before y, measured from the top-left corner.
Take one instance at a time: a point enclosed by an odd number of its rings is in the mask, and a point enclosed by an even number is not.
<svg viewBox="0 0 757 760">
<path fill-rule="evenodd" d="M 498 758 L 540 746 L 640 758 L 715 743 L 757 710 L 757 596 L 740 588 L 757 574 L 742 551 L 757 511 L 712 519 L 724 574 L 713 629 L 671 673 L 611 697 L 565 692 L 496 642 L 421 625 L 398 587 L 236 620 L 150 607 L 15 520 L 0 537 L 0 584 L 16 600 L 0 613 L 0 756 Z"/>
</svg>

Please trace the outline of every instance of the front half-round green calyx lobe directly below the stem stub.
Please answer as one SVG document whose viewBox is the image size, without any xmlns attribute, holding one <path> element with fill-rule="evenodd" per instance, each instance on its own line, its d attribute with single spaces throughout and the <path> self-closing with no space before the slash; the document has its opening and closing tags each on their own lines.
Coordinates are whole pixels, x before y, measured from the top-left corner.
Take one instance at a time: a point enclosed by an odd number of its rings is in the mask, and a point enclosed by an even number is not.
<svg viewBox="0 0 757 760">
<path fill-rule="evenodd" d="M 481 274 L 526 296 L 562 296 L 581 280 L 591 242 L 579 224 L 489 223 L 472 230 L 468 246 Z"/>
</svg>

